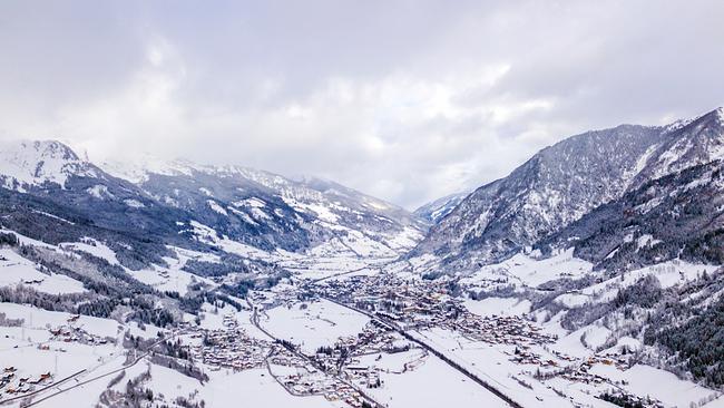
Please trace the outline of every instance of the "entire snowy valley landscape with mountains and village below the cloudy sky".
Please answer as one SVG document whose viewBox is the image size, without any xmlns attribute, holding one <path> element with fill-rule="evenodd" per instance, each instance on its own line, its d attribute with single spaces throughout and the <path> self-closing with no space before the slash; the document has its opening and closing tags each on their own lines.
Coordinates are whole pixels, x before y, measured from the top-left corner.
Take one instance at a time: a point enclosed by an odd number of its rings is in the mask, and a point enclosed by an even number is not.
<svg viewBox="0 0 724 408">
<path fill-rule="evenodd" d="M 0 406 L 724 407 L 724 110 L 415 213 L 0 147 Z"/>
</svg>

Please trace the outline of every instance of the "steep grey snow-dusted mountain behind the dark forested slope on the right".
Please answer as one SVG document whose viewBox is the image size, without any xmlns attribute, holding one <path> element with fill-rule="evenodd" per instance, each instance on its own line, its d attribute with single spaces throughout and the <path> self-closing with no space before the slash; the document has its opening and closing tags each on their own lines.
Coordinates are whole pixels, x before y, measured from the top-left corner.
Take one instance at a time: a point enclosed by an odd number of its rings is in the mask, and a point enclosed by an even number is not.
<svg viewBox="0 0 724 408">
<path fill-rule="evenodd" d="M 573 136 L 466 197 L 411 255 L 472 269 L 530 247 L 644 183 L 722 157 L 722 108 L 669 126 Z"/>
</svg>

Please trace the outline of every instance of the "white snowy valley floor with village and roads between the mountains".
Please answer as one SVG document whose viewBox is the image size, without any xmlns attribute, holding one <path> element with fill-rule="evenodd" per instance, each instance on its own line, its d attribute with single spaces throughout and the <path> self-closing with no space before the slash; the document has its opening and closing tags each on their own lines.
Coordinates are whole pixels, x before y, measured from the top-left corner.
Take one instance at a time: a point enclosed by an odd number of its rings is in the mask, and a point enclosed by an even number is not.
<svg viewBox="0 0 724 408">
<path fill-rule="evenodd" d="M 84 290 L 2 251 L 0 284 Z M 183 271 L 183 262 L 204 255 L 178 255 L 131 274 L 184 293 L 205 279 Z M 720 392 L 633 361 L 624 349 L 640 342 L 612 342 L 604 324 L 569 332 L 559 315 L 541 315 L 527 299 L 463 300 L 448 281 L 422 280 L 392 258 L 324 249 L 274 256 L 293 271 L 290 279 L 236 299 L 241 308 L 205 303 L 198 324 L 188 315 L 174 330 L 0 303 L 0 406 L 112 407 L 135 398 L 187 407 L 613 407 L 601 395 L 615 394 L 648 407 L 724 407 Z M 632 275 L 673 285 L 706 268 L 678 263 Z M 481 289 L 505 276 L 526 286 L 589 271 L 562 253 L 516 258 L 460 283 Z M 607 291 L 613 282 L 558 301 Z M 129 343 L 131 336 L 140 344 Z M 187 356 L 165 356 L 167 342 Z"/>
</svg>

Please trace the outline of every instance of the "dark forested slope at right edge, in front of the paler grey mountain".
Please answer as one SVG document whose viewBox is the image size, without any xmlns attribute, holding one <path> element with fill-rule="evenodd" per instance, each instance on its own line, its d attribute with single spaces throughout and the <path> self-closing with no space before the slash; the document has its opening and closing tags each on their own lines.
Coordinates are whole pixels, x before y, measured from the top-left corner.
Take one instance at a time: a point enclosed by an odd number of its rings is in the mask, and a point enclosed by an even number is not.
<svg viewBox="0 0 724 408">
<path fill-rule="evenodd" d="M 627 271 L 674 259 L 724 263 L 724 163 L 710 162 L 640 185 L 539 247 L 575 247 L 597 269 Z"/>
</svg>

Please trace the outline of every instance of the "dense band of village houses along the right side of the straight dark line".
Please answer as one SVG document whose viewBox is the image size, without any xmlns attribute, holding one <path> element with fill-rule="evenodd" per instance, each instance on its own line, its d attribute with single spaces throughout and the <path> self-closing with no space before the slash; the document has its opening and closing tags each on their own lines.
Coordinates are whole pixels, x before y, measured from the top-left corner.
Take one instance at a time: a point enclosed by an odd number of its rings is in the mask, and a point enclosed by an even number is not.
<svg viewBox="0 0 724 408">
<path fill-rule="evenodd" d="M 505 353 L 509 356 L 509 361 L 521 366 L 521 373 L 539 380 L 560 377 L 574 383 L 607 385 L 620 398 L 643 407 L 662 406 L 655 399 L 628 395 L 620 385 L 589 372 L 595 365 L 627 370 L 632 367 L 629 356 L 606 351 L 591 353 L 581 360 L 550 350 L 548 346 L 558 340 L 556 334 L 545 332 L 522 314 L 480 317 L 471 313 L 459 297 L 452 295 L 453 290 L 446 282 L 405 281 L 383 273 L 307 285 L 304 293 L 311 298 L 334 300 L 368 313 L 376 318 L 373 321 L 382 327 L 414 332 L 440 328 L 488 344 L 512 346 L 515 351 Z M 546 350 L 549 357 L 541 357 L 536 350 Z M 537 368 L 531 370 L 530 367 Z"/>
</svg>

